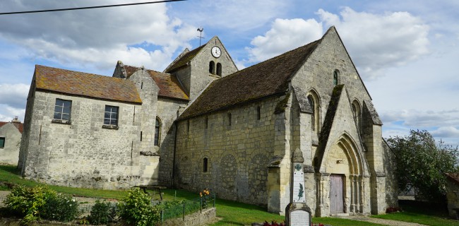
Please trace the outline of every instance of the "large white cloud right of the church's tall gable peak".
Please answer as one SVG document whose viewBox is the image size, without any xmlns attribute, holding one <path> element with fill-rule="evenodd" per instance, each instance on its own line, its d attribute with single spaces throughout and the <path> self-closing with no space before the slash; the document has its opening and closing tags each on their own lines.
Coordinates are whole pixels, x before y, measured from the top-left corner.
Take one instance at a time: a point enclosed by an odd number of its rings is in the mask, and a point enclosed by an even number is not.
<svg viewBox="0 0 459 226">
<path fill-rule="evenodd" d="M 365 78 L 376 78 L 388 67 L 401 66 L 429 54 L 429 25 L 410 13 L 373 14 L 345 7 L 341 17 L 323 9 L 317 14 L 327 26 L 336 26 Z"/>
</svg>

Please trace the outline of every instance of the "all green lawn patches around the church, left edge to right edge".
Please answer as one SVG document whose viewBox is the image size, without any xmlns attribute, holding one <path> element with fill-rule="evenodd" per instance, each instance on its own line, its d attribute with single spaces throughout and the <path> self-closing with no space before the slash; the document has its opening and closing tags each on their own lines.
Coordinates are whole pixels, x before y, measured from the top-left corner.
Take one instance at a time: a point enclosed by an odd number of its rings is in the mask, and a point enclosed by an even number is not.
<svg viewBox="0 0 459 226">
<path fill-rule="evenodd" d="M 44 185 L 37 182 L 33 182 L 27 179 L 23 179 L 19 176 L 18 169 L 16 166 L 11 165 L 0 165 L 0 181 L 8 182 L 11 184 L 22 184 L 25 186 L 37 186 Z M 115 198 L 119 199 L 126 195 L 126 191 L 112 191 L 112 190 L 99 190 L 99 189 L 77 189 L 65 186 L 51 186 L 49 188 L 54 189 L 55 191 L 73 194 L 76 196 L 85 196 L 93 198 Z M 0 189 L 7 189 L 6 186 L 0 186 Z M 160 196 L 155 191 L 149 191 L 151 195 L 155 195 L 155 199 L 159 199 Z M 163 198 L 165 200 L 174 200 L 174 199 L 193 199 L 197 198 L 198 194 L 174 190 L 174 189 L 165 189 Z M 221 220 L 215 222 L 213 225 L 251 225 L 252 222 L 263 222 L 265 220 L 277 220 L 282 222 L 285 217 L 268 213 L 266 208 L 250 205 L 246 203 L 237 203 L 234 201 L 227 201 L 217 198 L 216 201 L 217 207 L 217 217 Z M 426 208 L 413 208 L 412 206 L 402 206 L 405 210 L 402 213 L 391 213 L 388 215 L 375 215 L 374 218 L 384 218 L 389 220 L 400 220 L 406 222 L 417 222 L 424 225 L 459 225 L 459 221 L 445 219 L 446 215 L 444 211 L 435 211 L 428 210 Z M 427 214 L 429 213 L 429 214 Z M 314 223 L 323 223 L 333 226 L 351 226 L 351 225 L 369 225 L 375 226 L 378 224 L 373 224 L 370 222 L 359 222 L 355 220 L 347 220 L 340 218 L 313 218 Z"/>
</svg>

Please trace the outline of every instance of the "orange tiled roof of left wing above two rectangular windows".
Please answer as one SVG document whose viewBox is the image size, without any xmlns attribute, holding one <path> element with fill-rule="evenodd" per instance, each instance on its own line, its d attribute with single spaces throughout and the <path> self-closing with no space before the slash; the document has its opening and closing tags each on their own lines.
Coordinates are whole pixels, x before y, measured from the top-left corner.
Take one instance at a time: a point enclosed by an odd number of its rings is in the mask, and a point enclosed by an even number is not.
<svg viewBox="0 0 459 226">
<path fill-rule="evenodd" d="M 38 90 L 120 102 L 142 102 L 136 85 L 121 78 L 36 65 L 35 82 Z"/>
</svg>

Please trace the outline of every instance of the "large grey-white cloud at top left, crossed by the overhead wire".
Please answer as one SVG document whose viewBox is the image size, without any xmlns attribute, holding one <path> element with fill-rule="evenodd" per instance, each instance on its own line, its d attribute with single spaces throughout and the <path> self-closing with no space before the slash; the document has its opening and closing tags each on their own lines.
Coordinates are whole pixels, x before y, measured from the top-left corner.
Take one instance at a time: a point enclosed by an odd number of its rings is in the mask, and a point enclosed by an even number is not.
<svg viewBox="0 0 459 226">
<path fill-rule="evenodd" d="M 132 2 L 141 2 L 136 0 Z M 117 4 L 105 1 L 97 4 Z M 93 6 L 94 1 L 78 1 Z M 18 0 L 1 4 L 2 11 L 76 7 L 67 1 Z M 0 37 L 27 49 L 34 57 L 67 66 L 112 68 L 117 60 L 160 70 L 174 52 L 191 47 L 196 29 L 167 16 L 166 4 L 34 13 L 9 16 L 0 23 Z M 129 47 L 136 44 L 146 47 Z"/>
</svg>

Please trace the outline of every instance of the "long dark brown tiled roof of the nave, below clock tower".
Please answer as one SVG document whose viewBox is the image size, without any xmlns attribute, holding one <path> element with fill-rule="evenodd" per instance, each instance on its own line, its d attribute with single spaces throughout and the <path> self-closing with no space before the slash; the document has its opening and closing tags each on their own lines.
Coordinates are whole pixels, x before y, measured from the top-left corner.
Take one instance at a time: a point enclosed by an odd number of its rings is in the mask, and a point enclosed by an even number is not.
<svg viewBox="0 0 459 226">
<path fill-rule="evenodd" d="M 285 93 L 290 78 L 314 52 L 320 40 L 213 81 L 181 114 L 180 119 Z"/>
</svg>

